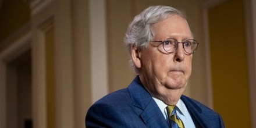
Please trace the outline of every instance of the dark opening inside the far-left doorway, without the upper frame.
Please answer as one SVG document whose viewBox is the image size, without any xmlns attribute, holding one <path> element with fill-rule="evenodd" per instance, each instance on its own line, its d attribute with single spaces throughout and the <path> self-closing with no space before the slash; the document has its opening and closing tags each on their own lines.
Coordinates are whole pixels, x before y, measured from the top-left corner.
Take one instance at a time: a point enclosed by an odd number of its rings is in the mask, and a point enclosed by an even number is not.
<svg viewBox="0 0 256 128">
<path fill-rule="evenodd" d="M 32 127 L 31 50 L 6 63 L 6 127 Z"/>
</svg>

